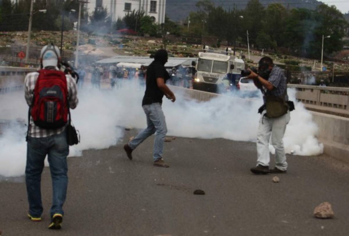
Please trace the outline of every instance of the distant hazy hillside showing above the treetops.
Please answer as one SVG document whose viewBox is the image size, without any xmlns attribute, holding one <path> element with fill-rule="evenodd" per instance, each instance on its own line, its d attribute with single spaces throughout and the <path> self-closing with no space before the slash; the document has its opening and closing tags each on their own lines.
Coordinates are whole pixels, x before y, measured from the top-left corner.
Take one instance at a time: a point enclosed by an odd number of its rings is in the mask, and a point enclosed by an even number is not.
<svg viewBox="0 0 349 236">
<path fill-rule="evenodd" d="M 166 15 L 173 21 L 180 21 L 185 19 L 190 12 L 197 10 L 195 7 L 198 0 L 167 0 L 166 1 Z M 234 4 L 239 9 L 244 9 L 247 4 L 246 1 L 241 0 L 213 0 L 216 6 L 222 6 L 225 9 L 233 8 Z M 264 6 L 270 3 L 281 3 L 286 8 L 309 8 L 315 9 L 320 4 L 317 0 L 260 0 Z"/>
</svg>

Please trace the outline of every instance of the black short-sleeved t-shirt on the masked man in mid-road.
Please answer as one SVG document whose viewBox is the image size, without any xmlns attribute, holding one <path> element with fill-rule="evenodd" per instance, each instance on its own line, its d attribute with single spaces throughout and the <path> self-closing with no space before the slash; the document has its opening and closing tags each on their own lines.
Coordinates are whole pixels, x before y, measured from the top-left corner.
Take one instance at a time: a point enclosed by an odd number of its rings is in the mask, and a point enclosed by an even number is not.
<svg viewBox="0 0 349 236">
<path fill-rule="evenodd" d="M 164 78 L 164 82 L 166 83 L 170 78 L 170 75 L 161 63 L 153 61 L 147 69 L 146 92 L 144 93 L 142 106 L 153 104 L 155 102 L 162 103 L 164 92 L 157 86 L 157 78 Z"/>
</svg>

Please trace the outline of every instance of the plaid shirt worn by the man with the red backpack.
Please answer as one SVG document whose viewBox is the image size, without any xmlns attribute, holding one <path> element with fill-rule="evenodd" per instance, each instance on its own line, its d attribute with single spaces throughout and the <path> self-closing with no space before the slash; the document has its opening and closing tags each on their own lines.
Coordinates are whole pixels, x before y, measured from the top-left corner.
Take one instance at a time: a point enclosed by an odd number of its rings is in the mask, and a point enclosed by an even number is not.
<svg viewBox="0 0 349 236">
<path fill-rule="evenodd" d="M 39 73 L 32 72 L 27 74 L 27 76 L 25 76 L 25 79 L 24 79 L 24 97 L 29 107 L 32 105 L 32 100 L 34 96 L 34 87 L 35 87 L 38 76 L 39 76 Z M 67 87 L 68 87 L 69 107 L 74 109 L 77 103 L 79 102 L 79 100 L 77 99 L 76 82 L 70 75 L 66 75 L 66 78 L 67 78 Z M 33 117 L 30 116 L 28 135 L 33 138 L 44 138 L 51 135 L 60 134 L 61 132 L 64 131 L 64 129 L 65 129 L 65 126 L 59 129 L 40 128 L 34 124 Z"/>
</svg>

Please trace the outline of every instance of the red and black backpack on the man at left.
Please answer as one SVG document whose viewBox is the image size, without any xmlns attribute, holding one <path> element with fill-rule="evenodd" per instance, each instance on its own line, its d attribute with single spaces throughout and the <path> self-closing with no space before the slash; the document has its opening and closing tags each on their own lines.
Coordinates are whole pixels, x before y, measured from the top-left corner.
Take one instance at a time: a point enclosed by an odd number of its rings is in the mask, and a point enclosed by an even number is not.
<svg viewBox="0 0 349 236">
<path fill-rule="evenodd" d="M 65 74 L 59 70 L 39 70 L 34 88 L 31 116 L 44 129 L 58 129 L 68 121 L 68 89 Z"/>
</svg>

